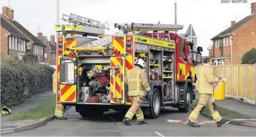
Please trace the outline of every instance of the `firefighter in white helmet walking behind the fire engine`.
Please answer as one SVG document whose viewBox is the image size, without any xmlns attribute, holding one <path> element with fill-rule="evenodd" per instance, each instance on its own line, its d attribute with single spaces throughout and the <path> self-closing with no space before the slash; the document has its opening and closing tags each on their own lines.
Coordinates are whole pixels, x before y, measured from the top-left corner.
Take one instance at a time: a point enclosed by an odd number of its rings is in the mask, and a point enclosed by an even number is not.
<svg viewBox="0 0 256 137">
<path fill-rule="evenodd" d="M 147 80 L 147 74 L 142 70 L 144 66 L 145 61 L 142 60 L 142 58 L 138 58 L 138 60 L 135 61 L 135 67 L 132 68 L 124 78 L 124 82 L 129 87 L 128 95 L 133 102 L 132 107 L 127 111 L 122 121 L 127 126 L 131 125 L 129 121 L 132 120 L 134 114 L 136 114 L 138 124 L 148 124 L 144 121 L 143 112 L 141 110 L 142 99 L 145 96 L 145 91 L 151 91 Z"/>
</svg>

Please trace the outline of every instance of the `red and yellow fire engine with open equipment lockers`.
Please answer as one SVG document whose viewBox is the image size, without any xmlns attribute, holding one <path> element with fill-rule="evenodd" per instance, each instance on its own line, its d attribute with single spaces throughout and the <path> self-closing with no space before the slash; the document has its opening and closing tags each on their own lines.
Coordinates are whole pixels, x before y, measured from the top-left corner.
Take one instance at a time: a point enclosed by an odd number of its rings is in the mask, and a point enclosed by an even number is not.
<svg viewBox="0 0 256 137">
<path fill-rule="evenodd" d="M 146 93 L 144 115 L 156 119 L 161 106 L 188 112 L 196 99 L 193 83 L 202 47 L 195 52 L 193 41 L 169 33 L 182 25 L 115 24 L 121 32 L 105 36 L 105 24 L 75 14 L 65 16 L 73 24 L 55 27 L 57 103 L 75 106 L 83 117 L 100 116 L 109 109 L 127 111 L 132 103 L 124 77 L 136 58 L 145 55 L 152 95 L 148 98 Z"/>
</svg>

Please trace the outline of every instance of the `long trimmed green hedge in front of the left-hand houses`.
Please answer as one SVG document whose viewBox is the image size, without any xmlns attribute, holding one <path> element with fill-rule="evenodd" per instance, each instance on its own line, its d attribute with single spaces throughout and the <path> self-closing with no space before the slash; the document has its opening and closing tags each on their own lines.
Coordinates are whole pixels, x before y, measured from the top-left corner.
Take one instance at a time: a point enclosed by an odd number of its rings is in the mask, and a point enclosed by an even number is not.
<svg viewBox="0 0 256 137">
<path fill-rule="evenodd" d="M 37 58 L 35 55 L 27 55 Z M 1 106 L 19 105 L 32 95 L 52 89 L 53 67 L 29 63 L 26 57 L 9 57 L 1 54 Z"/>
</svg>

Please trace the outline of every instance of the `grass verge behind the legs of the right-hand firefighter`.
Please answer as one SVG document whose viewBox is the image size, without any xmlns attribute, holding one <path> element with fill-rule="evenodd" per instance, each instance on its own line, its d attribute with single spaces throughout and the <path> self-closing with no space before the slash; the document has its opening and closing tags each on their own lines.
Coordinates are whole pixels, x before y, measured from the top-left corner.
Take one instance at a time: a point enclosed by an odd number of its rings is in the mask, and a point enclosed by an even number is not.
<svg viewBox="0 0 256 137">
<path fill-rule="evenodd" d="M 199 99 L 196 99 L 196 101 L 193 102 L 193 104 L 191 104 L 191 107 L 196 107 L 196 105 L 198 104 L 198 101 L 199 101 Z M 220 113 L 221 116 L 227 116 L 227 117 L 245 116 L 242 113 L 230 110 L 230 109 L 225 108 L 225 107 L 221 107 L 219 105 L 217 105 L 217 110 L 218 110 L 218 112 Z M 205 108 L 205 110 L 203 112 L 206 113 L 206 114 L 211 114 L 207 107 Z"/>
</svg>

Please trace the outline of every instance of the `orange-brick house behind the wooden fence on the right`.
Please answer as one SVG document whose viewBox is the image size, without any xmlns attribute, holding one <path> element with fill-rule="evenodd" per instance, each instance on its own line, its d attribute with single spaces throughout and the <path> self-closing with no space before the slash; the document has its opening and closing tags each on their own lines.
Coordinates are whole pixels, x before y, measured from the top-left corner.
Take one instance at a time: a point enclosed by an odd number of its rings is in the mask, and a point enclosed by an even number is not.
<svg viewBox="0 0 256 137">
<path fill-rule="evenodd" d="M 208 47 L 209 56 L 214 65 L 242 63 L 245 52 L 256 48 L 256 2 L 251 4 L 251 15 L 238 21 L 231 21 L 231 26 L 211 39 Z"/>
</svg>

